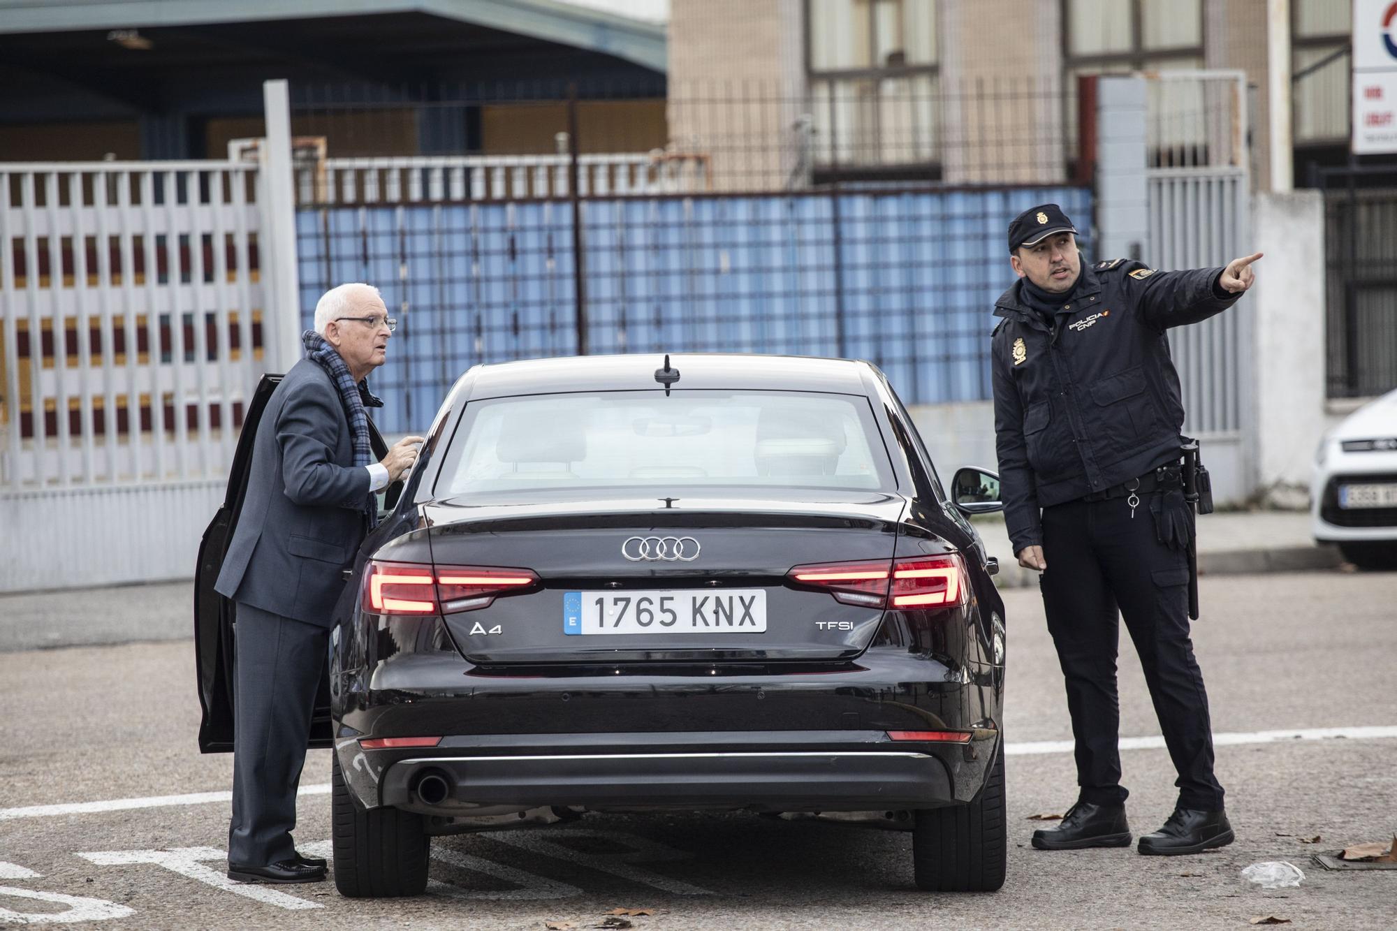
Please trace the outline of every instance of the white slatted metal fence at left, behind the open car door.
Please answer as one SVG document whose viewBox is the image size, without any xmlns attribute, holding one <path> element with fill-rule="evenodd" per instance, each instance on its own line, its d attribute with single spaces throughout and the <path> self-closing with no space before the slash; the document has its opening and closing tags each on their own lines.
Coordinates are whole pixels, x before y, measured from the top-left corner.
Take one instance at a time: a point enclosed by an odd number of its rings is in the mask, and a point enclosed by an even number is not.
<svg viewBox="0 0 1397 931">
<path fill-rule="evenodd" d="M 22 541 L 0 591 L 189 575 L 261 372 L 257 190 L 231 162 L 0 164 L 0 523 Z"/>
</svg>

